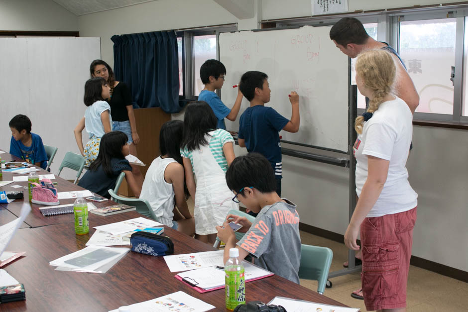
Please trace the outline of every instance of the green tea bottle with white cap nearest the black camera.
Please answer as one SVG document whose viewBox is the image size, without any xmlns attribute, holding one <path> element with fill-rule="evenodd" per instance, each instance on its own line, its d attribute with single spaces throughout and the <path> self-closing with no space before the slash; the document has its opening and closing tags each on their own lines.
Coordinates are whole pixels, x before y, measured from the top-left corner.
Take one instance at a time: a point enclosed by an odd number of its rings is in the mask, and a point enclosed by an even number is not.
<svg viewBox="0 0 468 312">
<path fill-rule="evenodd" d="M 231 248 L 229 250 L 229 259 L 226 262 L 226 309 L 234 310 L 235 307 L 245 304 L 245 280 L 244 266 L 238 259 L 239 250 Z"/>
</svg>

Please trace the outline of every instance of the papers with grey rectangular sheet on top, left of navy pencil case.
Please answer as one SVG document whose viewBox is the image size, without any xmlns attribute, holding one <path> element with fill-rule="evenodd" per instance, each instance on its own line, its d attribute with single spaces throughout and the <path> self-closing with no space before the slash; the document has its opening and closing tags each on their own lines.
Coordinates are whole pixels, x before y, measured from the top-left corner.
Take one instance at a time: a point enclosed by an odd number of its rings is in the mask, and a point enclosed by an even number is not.
<svg viewBox="0 0 468 312">
<path fill-rule="evenodd" d="M 130 251 L 128 248 L 89 246 L 51 261 L 58 271 L 106 273 Z"/>
</svg>

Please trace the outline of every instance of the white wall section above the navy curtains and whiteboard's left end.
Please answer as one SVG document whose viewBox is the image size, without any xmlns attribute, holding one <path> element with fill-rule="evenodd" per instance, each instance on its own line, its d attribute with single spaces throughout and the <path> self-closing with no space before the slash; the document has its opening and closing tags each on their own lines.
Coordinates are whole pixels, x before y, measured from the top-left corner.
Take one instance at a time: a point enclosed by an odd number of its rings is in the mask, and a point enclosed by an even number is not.
<svg viewBox="0 0 468 312">
<path fill-rule="evenodd" d="M 78 17 L 80 36 L 101 36 L 102 58 L 114 64 L 113 35 L 235 23 L 213 0 L 157 0 Z"/>
</svg>

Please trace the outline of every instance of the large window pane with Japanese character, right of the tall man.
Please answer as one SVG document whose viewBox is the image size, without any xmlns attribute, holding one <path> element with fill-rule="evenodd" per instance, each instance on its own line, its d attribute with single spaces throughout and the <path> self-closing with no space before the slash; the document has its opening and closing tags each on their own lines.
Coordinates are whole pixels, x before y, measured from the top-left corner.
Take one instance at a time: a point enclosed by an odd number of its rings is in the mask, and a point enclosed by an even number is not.
<svg viewBox="0 0 468 312">
<path fill-rule="evenodd" d="M 400 57 L 419 94 L 417 112 L 453 114 L 456 19 L 400 22 Z"/>
</svg>

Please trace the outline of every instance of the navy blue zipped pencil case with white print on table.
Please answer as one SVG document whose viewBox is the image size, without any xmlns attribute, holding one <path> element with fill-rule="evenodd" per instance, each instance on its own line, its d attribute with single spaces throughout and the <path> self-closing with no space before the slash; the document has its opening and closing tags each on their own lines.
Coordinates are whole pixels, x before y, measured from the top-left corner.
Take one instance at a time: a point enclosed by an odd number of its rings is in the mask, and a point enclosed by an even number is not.
<svg viewBox="0 0 468 312">
<path fill-rule="evenodd" d="M 169 237 L 149 232 L 135 232 L 130 236 L 131 251 L 151 256 L 174 253 L 174 243 Z"/>
</svg>

